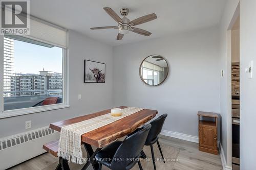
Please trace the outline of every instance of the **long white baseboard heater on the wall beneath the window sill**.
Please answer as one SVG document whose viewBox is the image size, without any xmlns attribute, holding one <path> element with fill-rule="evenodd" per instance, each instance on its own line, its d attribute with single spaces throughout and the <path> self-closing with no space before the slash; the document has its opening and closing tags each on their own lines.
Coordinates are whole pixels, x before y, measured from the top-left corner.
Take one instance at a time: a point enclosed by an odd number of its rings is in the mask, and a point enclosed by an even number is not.
<svg viewBox="0 0 256 170">
<path fill-rule="evenodd" d="M 0 169 L 7 169 L 45 153 L 42 145 L 58 137 L 58 132 L 44 127 L 0 139 Z"/>
</svg>

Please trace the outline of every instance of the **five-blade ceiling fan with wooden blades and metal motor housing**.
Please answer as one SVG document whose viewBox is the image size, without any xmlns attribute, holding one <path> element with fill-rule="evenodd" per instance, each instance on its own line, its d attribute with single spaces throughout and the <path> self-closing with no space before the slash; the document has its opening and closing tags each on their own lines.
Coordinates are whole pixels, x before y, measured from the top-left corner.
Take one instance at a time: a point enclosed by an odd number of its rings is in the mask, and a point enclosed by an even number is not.
<svg viewBox="0 0 256 170">
<path fill-rule="evenodd" d="M 128 34 L 130 33 L 130 31 L 135 32 L 137 34 L 140 35 L 144 35 L 144 36 L 150 36 L 151 32 L 148 32 L 146 30 L 142 30 L 139 28 L 135 28 L 133 26 L 137 26 L 140 25 L 141 23 L 145 23 L 151 20 L 154 20 L 157 18 L 156 14 L 148 14 L 142 17 L 139 17 L 137 19 L 134 19 L 132 21 L 130 21 L 130 19 L 126 18 L 126 16 L 129 13 L 129 9 L 128 8 L 121 8 L 120 9 L 120 13 L 123 16 L 123 18 L 120 18 L 115 11 L 113 11 L 111 8 L 103 8 L 106 13 L 108 13 L 115 21 L 117 21 L 118 26 L 108 26 L 108 27 L 94 27 L 91 28 L 91 30 L 100 30 L 100 29 L 119 29 L 119 33 L 117 35 L 116 40 L 121 40 L 124 36 L 124 34 Z"/>
</svg>

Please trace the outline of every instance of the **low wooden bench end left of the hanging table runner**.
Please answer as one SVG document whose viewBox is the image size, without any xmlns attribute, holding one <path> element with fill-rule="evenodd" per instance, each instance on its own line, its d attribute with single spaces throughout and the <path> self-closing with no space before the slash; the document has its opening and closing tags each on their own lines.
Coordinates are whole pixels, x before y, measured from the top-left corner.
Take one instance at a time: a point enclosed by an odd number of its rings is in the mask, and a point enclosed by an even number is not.
<svg viewBox="0 0 256 170">
<path fill-rule="evenodd" d="M 58 145 L 59 145 L 58 140 L 51 141 L 49 143 L 42 145 L 42 149 L 46 150 L 53 156 L 58 157 L 58 147 L 59 147 Z M 59 164 L 57 165 L 56 170 L 63 170 L 63 169 L 70 170 L 68 160 L 63 159 L 62 157 L 59 157 Z"/>
</svg>

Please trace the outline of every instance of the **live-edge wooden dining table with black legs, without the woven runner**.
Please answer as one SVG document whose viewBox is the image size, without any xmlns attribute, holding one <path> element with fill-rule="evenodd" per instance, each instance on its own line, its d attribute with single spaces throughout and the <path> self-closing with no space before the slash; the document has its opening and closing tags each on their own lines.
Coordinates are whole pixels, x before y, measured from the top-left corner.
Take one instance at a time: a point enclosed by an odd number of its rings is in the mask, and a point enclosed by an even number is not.
<svg viewBox="0 0 256 170">
<path fill-rule="evenodd" d="M 120 106 L 118 108 L 124 109 L 126 106 Z M 62 120 L 60 122 L 50 124 L 50 128 L 60 132 L 61 128 L 64 126 L 75 124 L 83 120 L 101 116 L 103 114 L 108 114 L 110 112 L 111 109 L 108 109 L 93 114 L 71 118 L 68 120 Z M 87 169 L 90 163 L 92 163 L 94 170 L 98 170 L 99 164 L 94 161 L 94 156 L 102 147 L 105 147 L 111 142 L 132 133 L 141 125 L 154 118 L 157 114 L 157 110 L 143 109 L 134 114 L 121 118 L 120 120 L 117 120 L 116 122 L 113 122 L 109 125 L 95 129 L 88 133 L 84 133 L 81 137 L 81 144 L 84 145 L 84 148 L 87 151 L 88 161 L 82 167 L 82 170 Z M 96 147 L 97 149 L 93 151 L 92 146 Z M 69 167 L 67 167 L 67 169 L 69 169 Z"/>
</svg>

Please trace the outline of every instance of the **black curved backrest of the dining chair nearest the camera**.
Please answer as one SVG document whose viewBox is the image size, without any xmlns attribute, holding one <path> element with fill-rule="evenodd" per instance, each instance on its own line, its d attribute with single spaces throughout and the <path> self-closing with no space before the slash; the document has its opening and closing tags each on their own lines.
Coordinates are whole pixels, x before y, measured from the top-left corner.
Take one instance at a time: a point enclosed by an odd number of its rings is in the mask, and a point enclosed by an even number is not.
<svg viewBox="0 0 256 170">
<path fill-rule="evenodd" d="M 127 165 L 139 158 L 150 128 L 151 124 L 145 125 L 141 130 L 124 139 L 113 157 L 111 169 L 126 169 Z"/>
</svg>

